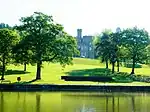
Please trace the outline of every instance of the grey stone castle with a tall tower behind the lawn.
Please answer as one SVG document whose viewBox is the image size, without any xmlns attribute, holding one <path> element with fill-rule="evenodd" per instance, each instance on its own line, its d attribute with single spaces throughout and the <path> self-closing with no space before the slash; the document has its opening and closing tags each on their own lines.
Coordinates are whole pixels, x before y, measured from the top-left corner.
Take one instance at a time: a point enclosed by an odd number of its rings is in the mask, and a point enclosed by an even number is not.
<svg viewBox="0 0 150 112">
<path fill-rule="evenodd" d="M 80 57 L 94 59 L 93 36 L 82 36 L 82 29 L 77 29 L 77 44 Z"/>
</svg>

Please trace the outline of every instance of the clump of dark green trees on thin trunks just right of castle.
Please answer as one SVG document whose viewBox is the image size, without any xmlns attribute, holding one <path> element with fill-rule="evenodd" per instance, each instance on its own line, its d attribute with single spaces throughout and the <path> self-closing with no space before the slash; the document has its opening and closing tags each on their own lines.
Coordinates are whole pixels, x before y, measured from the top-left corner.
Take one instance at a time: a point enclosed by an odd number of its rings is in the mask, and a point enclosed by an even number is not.
<svg viewBox="0 0 150 112">
<path fill-rule="evenodd" d="M 125 58 L 125 54 L 127 53 L 125 52 L 127 51 L 125 47 L 122 46 L 122 33 L 112 33 L 110 30 L 105 30 L 94 42 L 97 56 L 101 57 L 102 62 L 106 62 L 106 68 L 108 68 L 109 60 L 112 64 L 112 73 L 114 73 L 114 67 L 117 61 L 119 72 L 119 61 Z"/>
</svg>

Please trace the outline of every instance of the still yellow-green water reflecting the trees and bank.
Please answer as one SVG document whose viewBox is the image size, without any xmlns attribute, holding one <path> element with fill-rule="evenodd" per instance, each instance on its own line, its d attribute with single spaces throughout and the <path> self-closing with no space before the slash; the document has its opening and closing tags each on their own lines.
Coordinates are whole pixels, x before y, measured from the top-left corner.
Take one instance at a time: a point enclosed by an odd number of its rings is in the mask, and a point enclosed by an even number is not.
<svg viewBox="0 0 150 112">
<path fill-rule="evenodd" d="M 150 112 L 150 93 L 0 92 L 0 112 Z"/>
</svg>

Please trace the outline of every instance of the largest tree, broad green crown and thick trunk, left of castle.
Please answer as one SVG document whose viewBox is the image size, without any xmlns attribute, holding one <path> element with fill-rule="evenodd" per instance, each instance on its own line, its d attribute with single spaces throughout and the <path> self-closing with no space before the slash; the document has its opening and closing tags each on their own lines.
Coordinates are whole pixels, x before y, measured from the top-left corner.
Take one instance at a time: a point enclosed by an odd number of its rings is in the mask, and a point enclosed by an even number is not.
<svg viewBox="0 0 150 112">
<path fill-rule="evenodd" d="M 36 79 L 41 79 L 43 61 L 60 62 L 61 65 L 71 64 L 77 51 L 75 38 L 64 32 L 60 24 L 56 24 L 52 16 L 35 12 L 29 17 L 22 17 L 22 25 L 18 30 L 26 31 L 26 44 L 33 53 L 32 60 L 37 64 Z"/>
</svg>

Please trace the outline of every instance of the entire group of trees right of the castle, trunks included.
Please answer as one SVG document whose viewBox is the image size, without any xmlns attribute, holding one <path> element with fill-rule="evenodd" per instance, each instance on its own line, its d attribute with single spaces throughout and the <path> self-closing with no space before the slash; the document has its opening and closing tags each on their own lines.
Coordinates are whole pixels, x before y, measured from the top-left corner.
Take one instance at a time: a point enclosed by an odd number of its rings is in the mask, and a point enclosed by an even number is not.
<svg viewBox="0 0 150 112">
<path fill-rule="evenodd" d="M 118 72 L 121 59 L 132 60 L 132 72 L 136 63 L 142 63 L 149 57 L 149 35 L 144 29 L 127 28 L 119 32 L 103 32 L 100 39 L 96 42 L 96 52 L 98 56 L 106 61 L 108 68 L 108 60 L 112 64 L 112 73 L 114 73 L 115 63 L 117 62 Z"/>
</svg>

